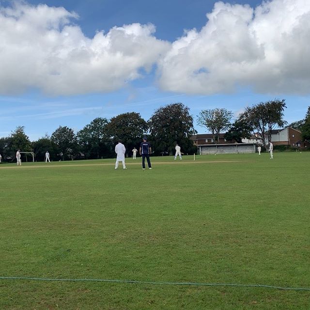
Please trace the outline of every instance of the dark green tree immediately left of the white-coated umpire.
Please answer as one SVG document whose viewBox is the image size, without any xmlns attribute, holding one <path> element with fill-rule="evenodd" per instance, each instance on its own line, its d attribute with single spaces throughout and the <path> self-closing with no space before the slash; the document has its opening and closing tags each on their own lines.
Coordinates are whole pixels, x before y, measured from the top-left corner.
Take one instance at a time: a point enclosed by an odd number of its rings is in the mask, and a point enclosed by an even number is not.
<svg viewBox="0 0 310 310">
<path fill-rule="evenodd" d="M 97 117 L 77 134 L 78 144 L 86 158 L 100 158 L 111 155 L 106 118 Z"/>
</svg>

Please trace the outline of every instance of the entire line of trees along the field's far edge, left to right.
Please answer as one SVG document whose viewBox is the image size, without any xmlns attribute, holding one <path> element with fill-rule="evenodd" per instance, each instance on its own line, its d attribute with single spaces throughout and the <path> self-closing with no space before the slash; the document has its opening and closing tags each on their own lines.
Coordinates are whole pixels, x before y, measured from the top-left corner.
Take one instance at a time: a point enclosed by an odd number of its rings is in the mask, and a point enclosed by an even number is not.
<svg viewBox="0 0 310 310">
<path fill-rule="evenodd" d="M 284 99 L 275 99 L 245 108 L 233 123 L 233 112 L 220 108 L 202 110 L 197 120 L 213 134 L 214 143 L 225 131 L 227 141 L 240 143 L 252 134 L 270 138 L 273 128 L 287 124 L 283 120 L 285 108 Z M 310 107 L 303 120 L 290 125 L 302 132 L 304 140 L 310 140 Z M 139 148 L 143 136 L 151 142 L 154 155 L 172 154 L 176 143 L 181 145 L 183 153 L 193 154 L 197 148 L 190 137 L 195 134 L 189 108 L 183 103 L 174 103 L 155 110 L 148 121 L 136 112 L 123 113 L 110 120 L 97 117 L 77 133 L 67 126 L 59 126 L 51 136 L 32 142 L 25 127 L 18 126 L 9 137 L 0 138 L 0 154 L 7 161 L 15 159 L 17 149 L 34 152 L 37 161 L 43 161 L 47 151 L 53 160 L 111 158 L 115 155 L 115 144 L 122 140 L 126 156 L 131 156 L 131 150 Z"/>
</svg>

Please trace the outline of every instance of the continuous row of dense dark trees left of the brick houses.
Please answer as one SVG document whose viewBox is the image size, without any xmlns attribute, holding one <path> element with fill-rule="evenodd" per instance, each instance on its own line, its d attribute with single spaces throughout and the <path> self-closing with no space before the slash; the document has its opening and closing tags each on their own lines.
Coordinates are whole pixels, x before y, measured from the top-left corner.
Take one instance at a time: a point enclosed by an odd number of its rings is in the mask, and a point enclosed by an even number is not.
<svg viewBox="0 0 310 310">
<path fill-rule="evenodd" d="M 114 147 L 122 140 L 126 156 L 139 149 L 143 136 L 151 142 L 154 155 L 172 154 L 175 144 L 182 145 L 183 153 L 195 151 L 190 140 L 194 135 L 193 117 L 183 103 L 174 103 L 157 109 L 145 121 L 140 113 L 128 112 L 110 120 L 95 118 L 77 133 L 67 126 L 59 126 L 50 136 L 30 141 L 24 126 L 18 126 L 9 137 L 0 138 L 0 154 L 7 161 L 14 161 L 16 150 L 34 152 L 35 160 L 43 161 L 48 151 L 53 160 L 97 159 L 115 156 Z M 24 155 L 24 160 L 30 157 Z"/>
</svg>

